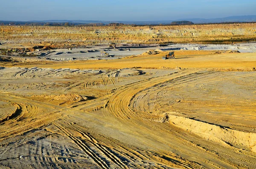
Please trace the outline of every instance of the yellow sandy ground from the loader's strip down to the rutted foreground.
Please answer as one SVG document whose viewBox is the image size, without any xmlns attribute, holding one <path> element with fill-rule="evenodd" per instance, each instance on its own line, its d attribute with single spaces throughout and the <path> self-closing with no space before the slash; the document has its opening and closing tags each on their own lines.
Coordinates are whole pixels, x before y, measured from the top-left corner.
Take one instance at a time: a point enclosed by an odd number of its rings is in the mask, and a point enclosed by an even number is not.
<svg viewBox="0 0 256 169">
<path fill-rule="evenodd" d="M 0 166 L 253 169 L 256 54 L 0 63 Z"/>
</svg>

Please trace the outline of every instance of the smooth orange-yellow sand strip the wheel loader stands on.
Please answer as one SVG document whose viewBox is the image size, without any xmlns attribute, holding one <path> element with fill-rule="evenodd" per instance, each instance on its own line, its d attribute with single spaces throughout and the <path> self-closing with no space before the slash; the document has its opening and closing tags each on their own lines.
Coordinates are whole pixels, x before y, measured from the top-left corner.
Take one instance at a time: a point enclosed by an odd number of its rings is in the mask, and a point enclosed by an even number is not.
<svg viewBox="0 0 256 169">
<path fill-rule="evenodd" d="M 256 53 L 230 53 L 228 51 L 176 51 L 174 60 L 163 60 L 169 51 L 141 54 L 115 60 L 48 61 L 27 59 L 23 62 L 3 62 L 2 66 L 70 68 L 70 69 L 252 69 L 256 67 Z"/>
</svg>

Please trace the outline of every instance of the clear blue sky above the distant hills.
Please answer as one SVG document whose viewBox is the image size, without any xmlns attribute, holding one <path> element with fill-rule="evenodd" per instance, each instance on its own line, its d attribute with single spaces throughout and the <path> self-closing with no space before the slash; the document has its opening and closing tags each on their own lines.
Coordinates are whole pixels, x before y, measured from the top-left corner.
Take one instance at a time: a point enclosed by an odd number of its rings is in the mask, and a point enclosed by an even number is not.
<svg viewBox="0 0 256 169">
<path fill-rule="evenodd" d="M 176 20 L 256 15 L 256 0 L 0 0 L 0 20 Z"/>
</svg>

